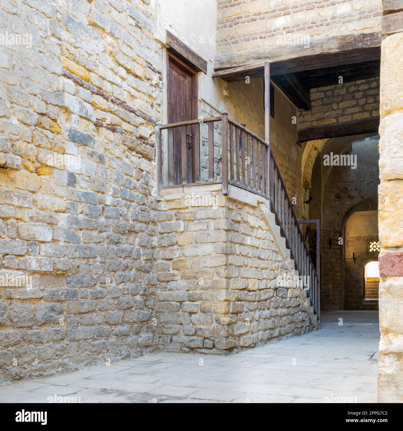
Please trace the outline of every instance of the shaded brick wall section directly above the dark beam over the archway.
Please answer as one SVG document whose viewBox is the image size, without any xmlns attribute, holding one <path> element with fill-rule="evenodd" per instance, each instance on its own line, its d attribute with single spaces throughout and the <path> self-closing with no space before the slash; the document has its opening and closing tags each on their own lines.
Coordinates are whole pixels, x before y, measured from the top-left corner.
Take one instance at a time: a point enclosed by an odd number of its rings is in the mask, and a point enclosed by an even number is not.
<svg viewBox="0 0 403 431">
<path fill-rule="evenodd" d="M 379 117 L 379 78 L 312 88 L 312 109 L 298 109 L 298 129 Z"/>
</svg>

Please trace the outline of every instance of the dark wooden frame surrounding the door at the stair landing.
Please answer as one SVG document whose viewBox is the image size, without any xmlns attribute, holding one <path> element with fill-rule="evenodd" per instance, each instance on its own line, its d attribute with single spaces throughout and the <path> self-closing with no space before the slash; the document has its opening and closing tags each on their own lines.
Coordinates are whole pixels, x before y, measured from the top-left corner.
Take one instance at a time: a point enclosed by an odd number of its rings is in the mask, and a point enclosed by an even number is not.
<svg viewBox="0 0 403 431">
<path fill-rule="evenodd" d="M 167 106 L 168 106 L 168 97 L 169 97 L 169 91 L 168 91 L 168 85 L 169 85 L 169 62 L 173 62 L 176 66 L 178 66 L 180 69 L 186 71 L 189 75 L 191 75 L 191 120 L 196 120 L 198 118 L 198 76 L 197 71 L 191 68 L 191 66 L 187 65 L 185 62 L 183 62 L 178 56 L 176 56 L 171 51 L 166 51 L 166 97 L 167 97 Z M 168 120 L 169 112 L 167 112 L 167 120 Z M 168 120 L 169 122 L 169 120 Z M 200 157 L 196 157 L 196 152 L 198 151 L 200 153 L 200 141 L 196 142 L 197 137 L 200 135 L 196 133 L 196 127 L 199 125 L 193 125 L 191 126 L 191 131 L 193 135 L 193 142 L 192 142 L 192 152 L 191 152 L 191 160 L 192 160 L 192 178 L 191 182 L 194 182 L 195 178 L 195 172 L 198 172 L 200 170 L 200 166 L 196 166 L 197 160 L 200 160 Z M 195 139 L 196 138 L 196 139 Z M 182 178 L 182 183 L 184 182 Z M 186 181 L 187 182 L 187 181 Z"/>
</svg>

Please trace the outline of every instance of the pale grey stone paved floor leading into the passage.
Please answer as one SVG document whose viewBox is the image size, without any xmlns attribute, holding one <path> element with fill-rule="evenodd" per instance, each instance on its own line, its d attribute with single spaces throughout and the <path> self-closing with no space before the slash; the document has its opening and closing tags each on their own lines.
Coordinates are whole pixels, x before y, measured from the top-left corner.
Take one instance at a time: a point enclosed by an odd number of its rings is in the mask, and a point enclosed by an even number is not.
<svg viewBox="0 0 403 431">
<path fill-rule="evenodd" d="M 237 355 L 149 354 L 3 386 L 0 402 L 57 394 L 81 403 L 376 403 L 378 343 L 378 312 L 323 313 L 320 331 Z"/>
</svg>

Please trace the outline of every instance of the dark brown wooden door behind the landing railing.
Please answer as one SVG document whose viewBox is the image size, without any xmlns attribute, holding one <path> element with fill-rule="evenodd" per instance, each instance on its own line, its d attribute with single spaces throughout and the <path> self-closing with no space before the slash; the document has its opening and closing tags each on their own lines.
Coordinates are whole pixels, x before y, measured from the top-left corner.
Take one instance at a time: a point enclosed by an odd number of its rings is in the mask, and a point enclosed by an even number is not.
<svg viewBox="0 0 403 431">
<path fill-rule="evenodd" d="M 168 52 L 168 122 L 197 119 L 197 73 Z M 174 129 L 174 184 L 193 182 L 194 126 L 186 126 L 186 145 L 182 145 L 184 127 Z M 182 178 L 182 157 L 187 159 L 187 178 Z"/>
</svg>

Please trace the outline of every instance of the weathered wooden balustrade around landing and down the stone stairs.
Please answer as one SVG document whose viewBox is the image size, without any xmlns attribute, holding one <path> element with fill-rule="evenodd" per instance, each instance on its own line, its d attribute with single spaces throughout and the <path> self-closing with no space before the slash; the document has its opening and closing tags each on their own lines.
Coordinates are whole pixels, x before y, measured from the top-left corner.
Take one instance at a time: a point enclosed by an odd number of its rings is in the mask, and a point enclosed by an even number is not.
<svg viewBox="0 0 403 431">
<path fill-rule="evenodd" d="M 217 122 L 221 123 L 221 130 L 219 130 L 221 143 L 216 142 L 216 145 L 221 146 L 221 178 L 214 170 L 214 127 Z M 207 131 L 203 133 L 202 127 L 207 127 Z M 295 267 L 303 277 L 304 284 L 307 284 L 304 292 L 310 298 L 319 318 L 320 278 L 309 256 L 293 204 L 288 197 L 269 144 L 244 125 L 228 119 L 226 113 L 220 117 L 166 124 L 159 126 L 158 129 L 159 189 L 179 185 L 222 183 L 223 194 L 228 194 L 231 184 L 269 200 L 270 209 L 291 251 Z M 165 146 L 168 170 L 165 172 L 166 175 L 163 172 L 164 148 L 162 146 L 162 133 L 165 130 L 168 132 Z M 203 136 L 206 137 L 203 138 Z M 207 147 L 207 151 L 204 150 L 204 152 L 202 139 L 206 141 Z M 201 156 L 202 153 L 204 158 Z M 204 159 L 207 159 L 207 166 L 203 166 Z M 219 162 L 218 159 L 217 162 Z"/>
</svg>

